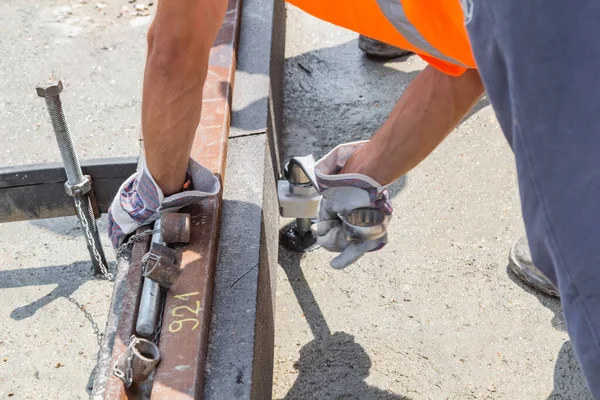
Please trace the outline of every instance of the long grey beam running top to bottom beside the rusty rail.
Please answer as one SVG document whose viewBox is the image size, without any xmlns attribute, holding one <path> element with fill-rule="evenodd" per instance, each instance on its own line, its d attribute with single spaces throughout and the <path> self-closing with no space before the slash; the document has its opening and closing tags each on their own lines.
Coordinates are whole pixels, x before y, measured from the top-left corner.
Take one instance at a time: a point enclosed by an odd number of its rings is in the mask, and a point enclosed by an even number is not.
<svg viewBox="0 0 600 400">
<path fill-rule="evenodd" d="M 269 124 L 281 91 L 283 4 L 242 5 L 203 398 L 270 398 L 279 205 Z M 272 40 L 273 39 L 273 40 Z M 283 44 L 283 43 L 281 43 Z M 275 96 L 276 98 L 281 98 Z M 269 105 L 274 107 L 269 107 Z"/>
</svg>

